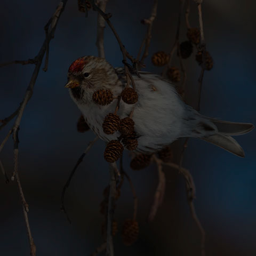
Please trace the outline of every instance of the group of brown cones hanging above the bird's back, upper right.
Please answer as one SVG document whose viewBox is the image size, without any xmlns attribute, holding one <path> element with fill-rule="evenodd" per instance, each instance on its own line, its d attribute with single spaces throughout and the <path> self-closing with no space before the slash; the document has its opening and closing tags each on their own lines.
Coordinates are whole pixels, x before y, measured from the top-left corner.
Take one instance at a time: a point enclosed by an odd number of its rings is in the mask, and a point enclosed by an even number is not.
<svg viewBox="0 0 256 256">
<path fill-rule="evenodd" d="M 179 50 L 177 51 L 177 54 L 181 55 L 182 59 L 187 59 L 190 57 L 190 55 L 193 53 L 193 45 L 196 46 L 198 49 L 198 45 L 200 43 L 200 31 L 198 28 L 188 28 L 187 30 L 187 41 L 184 41 L 180 43 Z M 153 65 L 162 67 L 165 66 L 170 59 L 170 55 L 159 51 L 153 54 L 151 61 Z M 203 54 L 202 51 L 198 50 L 196 54 L 196 61 L 199 65 L 202 65 L 203 63 Z M 213 67 L 213 59 L 209 52 L 205 52 L 205 69 L 211 70 Z M 180 70 L 177 67 L 170 67 L 167 71 L 167 75 L 170 78 L 170 80 L 174 83 L 180 82 L 181 75 Z"/>
</svg>

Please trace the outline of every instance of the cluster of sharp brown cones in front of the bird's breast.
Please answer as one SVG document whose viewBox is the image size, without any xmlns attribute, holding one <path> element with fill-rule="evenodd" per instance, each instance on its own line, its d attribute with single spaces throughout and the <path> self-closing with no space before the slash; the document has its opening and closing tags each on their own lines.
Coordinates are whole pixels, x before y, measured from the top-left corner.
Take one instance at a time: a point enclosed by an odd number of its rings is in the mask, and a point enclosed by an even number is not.
<svg viewBox="0 0 256 256">
<path fill-rule="evenodd" d="M 125 87 L 121 93 L 121 98 L 127 104 L 134 104 L 138 101 L 138 94 L 133 88 Z M 101 89 L 93 93 L 92 99 L 95 103 L 105 106 L 110 104 L 114 97 L 109 90 Z M 102 128 L 103 132 L 108 135 L 114 134 L 117 131 L 121 133 L 117 140 L 111 140 L 107 144 L 104 153 L 104 158 L 107 162 L 114 163 L 117 161 L 123 153 L 124 146 L 128 150 L 135 150 L 137 148 L 138 140 L 134 132 L 134 121 L 131 117 L 121 119 L 116 111 L 115 113 L 109 113 L 103 121 Z"/>
</svg>

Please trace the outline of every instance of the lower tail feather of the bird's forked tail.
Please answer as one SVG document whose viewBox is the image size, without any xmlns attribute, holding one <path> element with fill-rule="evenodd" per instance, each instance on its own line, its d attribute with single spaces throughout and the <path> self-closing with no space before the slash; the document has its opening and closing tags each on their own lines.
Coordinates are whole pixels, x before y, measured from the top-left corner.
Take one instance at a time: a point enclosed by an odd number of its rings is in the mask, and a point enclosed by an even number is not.
<svg viewBox="0 0 256 256">
<path fill-rule="evenodd" d="M 230 153 L 233 153 L 240 157 L 244 157 L 244 150 L 242 149 L 242 147 L 238 144 L 238 142 L 235 139 L 233 139 L 228 135 L 217 133 L 217 134 L 211 135 L 208 138 L 202 138 L 202 139 L 216 146 L 219 146 L 229 151 Z"/>
</svg>

